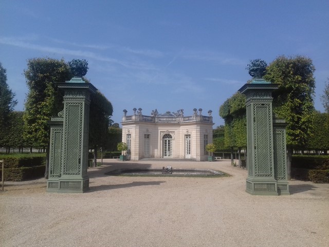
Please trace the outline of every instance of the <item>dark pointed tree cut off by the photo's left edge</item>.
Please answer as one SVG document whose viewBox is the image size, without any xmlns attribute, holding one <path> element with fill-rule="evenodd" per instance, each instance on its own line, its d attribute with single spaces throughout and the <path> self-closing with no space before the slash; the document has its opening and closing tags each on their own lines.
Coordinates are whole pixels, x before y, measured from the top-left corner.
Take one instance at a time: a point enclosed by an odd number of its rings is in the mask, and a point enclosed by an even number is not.
<svg viewBox="0 0 329 247">
<path fill-rule="evenodd" d="M 6 146 L 10 113 L 17 104 L 17 100 L 14 100 L 15 94 L 8 87 L 6 73 L 7 70 L 0 63 L 0 147 Z"/>
</svg>

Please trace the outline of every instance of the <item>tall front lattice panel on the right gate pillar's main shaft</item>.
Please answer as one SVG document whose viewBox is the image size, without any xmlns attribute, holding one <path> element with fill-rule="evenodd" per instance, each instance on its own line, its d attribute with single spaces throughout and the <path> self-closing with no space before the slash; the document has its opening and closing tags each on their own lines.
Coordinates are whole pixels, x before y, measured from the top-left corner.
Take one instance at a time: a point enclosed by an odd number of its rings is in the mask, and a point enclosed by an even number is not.
<svg viewBox="0 0 329 247">
<path fill-rule="evenodd" d="M 272 176 L 272 128 L 269 104 L 254 104 L 255 176 Z"/>
</svg>

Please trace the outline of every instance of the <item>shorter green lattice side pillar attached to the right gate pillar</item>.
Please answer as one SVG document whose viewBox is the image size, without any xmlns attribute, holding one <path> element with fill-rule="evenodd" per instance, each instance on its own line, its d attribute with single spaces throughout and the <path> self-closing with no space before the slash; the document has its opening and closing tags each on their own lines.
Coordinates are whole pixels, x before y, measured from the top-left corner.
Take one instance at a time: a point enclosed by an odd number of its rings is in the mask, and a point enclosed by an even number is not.
<svg viewBox="0 0 329 247">
<path fill-rule="evenodd" d="M 273 119 L 275 178 L 280 195 L 290 195 L 287 180 L 286 126 L 284 119 Z"/>
</svg>

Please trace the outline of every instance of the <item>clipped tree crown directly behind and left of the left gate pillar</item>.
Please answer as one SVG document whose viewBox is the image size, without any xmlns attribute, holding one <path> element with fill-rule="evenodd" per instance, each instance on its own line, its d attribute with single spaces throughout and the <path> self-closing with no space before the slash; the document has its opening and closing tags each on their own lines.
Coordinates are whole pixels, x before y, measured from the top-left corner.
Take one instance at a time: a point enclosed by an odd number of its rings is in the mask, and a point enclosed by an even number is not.
<svg viewBox="0 0 329 247">
<path fill-rule="evenodd" d="M 25 138 L 30 146 L 45 147 L 49 142 L 48 123 L 51 116 L 63 109 L 62 92 L 54 82 L 70 79 L 65 61 L 51 58 L 33 58 L 24 70 L 29 92 L 25 102 Z"/>
</svg>

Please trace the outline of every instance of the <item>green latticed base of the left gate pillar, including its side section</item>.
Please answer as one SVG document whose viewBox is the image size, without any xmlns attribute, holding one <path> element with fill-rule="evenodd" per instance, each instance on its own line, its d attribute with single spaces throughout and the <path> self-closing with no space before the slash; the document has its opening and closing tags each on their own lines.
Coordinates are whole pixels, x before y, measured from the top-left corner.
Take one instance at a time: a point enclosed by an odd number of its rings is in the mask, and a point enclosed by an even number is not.
<svg viewBox="0 0 329 247">
<path fill-rule="evenodd" d="M 89 190 L 89 178 L 52 178 L 47 181 L 47 192 L 83 193 Z"/>
</svg>

